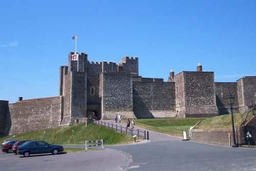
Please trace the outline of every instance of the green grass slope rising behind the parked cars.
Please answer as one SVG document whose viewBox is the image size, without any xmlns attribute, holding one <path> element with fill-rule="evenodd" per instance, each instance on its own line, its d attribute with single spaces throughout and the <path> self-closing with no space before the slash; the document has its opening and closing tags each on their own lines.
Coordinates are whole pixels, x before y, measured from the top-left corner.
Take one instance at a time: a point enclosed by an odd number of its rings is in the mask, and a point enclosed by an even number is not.
<svg viewBox="0 0 256 171">
<path fill-rule="evenodd" d="M 118 133 L 115 130 L 95 124 L 90 124 L 87 128 L 85 124 L 77 124 L 70 127 L 30 131 L 17 134 L 14 138 L 31 140 L 39 139 L 52 144 L 84 144 L 84 141 L 86 140 L 97 139 L 103 139 L 103 144 L 123 144 L 134 141 L 134 138 L 131 135 Z M 13 135 L 0 138 L 0 142 L 4 139 L 13 139 Z"/>
</svg>

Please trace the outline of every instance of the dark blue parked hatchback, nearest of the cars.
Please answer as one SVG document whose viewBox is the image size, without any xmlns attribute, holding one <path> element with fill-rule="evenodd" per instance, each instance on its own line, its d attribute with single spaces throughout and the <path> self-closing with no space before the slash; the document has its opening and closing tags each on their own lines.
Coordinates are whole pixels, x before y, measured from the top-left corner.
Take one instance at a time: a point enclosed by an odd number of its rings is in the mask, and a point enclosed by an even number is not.
<svg viewBox="0 0 256 171">
<path fill-rule="evenodd" d="M 18 146 L 17 154 L 29 157 L 31 154 L 52 153 L 58 154 L 63 152 L 64 148 L 61 145 L 49 144 L 42 140 L 28 141 Z"/>
</svg>

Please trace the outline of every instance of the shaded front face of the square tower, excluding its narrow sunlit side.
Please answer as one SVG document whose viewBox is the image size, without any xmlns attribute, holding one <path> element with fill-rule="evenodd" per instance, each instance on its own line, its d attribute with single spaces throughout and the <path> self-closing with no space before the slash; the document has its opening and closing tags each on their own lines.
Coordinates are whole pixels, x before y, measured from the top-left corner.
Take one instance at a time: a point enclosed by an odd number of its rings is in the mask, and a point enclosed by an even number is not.
<svg viewBox="0 0 256 171">
<path fill-rule="evenodd" d="M 218 115 L 214 72 L 184 72 L 185 116 Z"/>
</svg>

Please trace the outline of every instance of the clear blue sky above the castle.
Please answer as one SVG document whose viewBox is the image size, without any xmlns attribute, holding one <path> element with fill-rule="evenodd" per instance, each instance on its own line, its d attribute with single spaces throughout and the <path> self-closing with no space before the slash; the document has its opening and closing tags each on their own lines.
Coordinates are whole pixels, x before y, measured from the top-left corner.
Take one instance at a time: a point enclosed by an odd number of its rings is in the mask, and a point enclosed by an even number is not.
<svg viewBox="0 0 256 171">
<path fill-rule="evenodd" d="M 139 75 L 214 71 L 216 82 L 256 76 L 256 1 L 0 2 L 0 99 L 57 96 L 68 54 L 139 58 Z"/>
</svg>

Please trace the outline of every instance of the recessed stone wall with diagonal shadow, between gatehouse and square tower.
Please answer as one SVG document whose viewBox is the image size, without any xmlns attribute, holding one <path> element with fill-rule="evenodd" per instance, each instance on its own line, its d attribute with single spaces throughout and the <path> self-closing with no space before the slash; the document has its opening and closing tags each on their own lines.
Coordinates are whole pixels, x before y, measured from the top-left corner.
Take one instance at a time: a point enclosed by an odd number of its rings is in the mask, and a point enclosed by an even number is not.
<svg viewBox="0 0 256 171">
<path fill-rule="evenodd" d="M 133 110 L 137 118 L 175 117 L 175 106 L 175 83 L 133 82 Z"/>
</svg>

